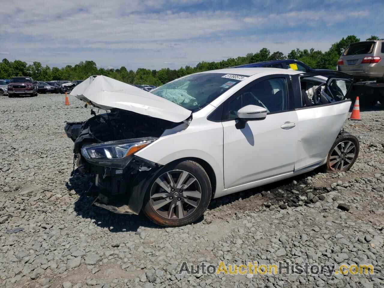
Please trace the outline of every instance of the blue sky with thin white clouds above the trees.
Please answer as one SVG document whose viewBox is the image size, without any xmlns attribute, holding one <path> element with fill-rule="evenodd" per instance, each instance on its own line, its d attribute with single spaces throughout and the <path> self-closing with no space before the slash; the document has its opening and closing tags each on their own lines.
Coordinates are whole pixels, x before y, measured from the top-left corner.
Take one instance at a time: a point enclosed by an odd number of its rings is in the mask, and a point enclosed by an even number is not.
<svg viewBox="0 0 384 288">
<path fill-rule="evenodd" d="M 263 47 L 327 50 L 351 34 L 384 38 L 382 11 L 383 0 L 14 0 L 0 17 L 0 58 L 136 70 L 195 66 Z"/>
</svg>

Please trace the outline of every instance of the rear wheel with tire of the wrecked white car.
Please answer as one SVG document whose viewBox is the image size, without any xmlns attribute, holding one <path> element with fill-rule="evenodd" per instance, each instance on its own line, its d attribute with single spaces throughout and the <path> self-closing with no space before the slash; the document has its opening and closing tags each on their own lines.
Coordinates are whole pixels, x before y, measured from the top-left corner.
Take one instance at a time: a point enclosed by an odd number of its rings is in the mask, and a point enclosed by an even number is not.
<svg viewBox="0 0 384 288">
<path fill-rule="evenodd" d="M 336 149 L 336 146 L 338 149 Z M 343 149 L 345 149 L 345 151 L 343 151 Z M 359 151 L 359 140 L 352 134 L 341 132 L 329 150 L 325 164 L 326 172 L 337 173 L 348 171 L 358 158 Z M 339 152 L 341 152 L 341 154 L 339 154 Z"/>
</svg>

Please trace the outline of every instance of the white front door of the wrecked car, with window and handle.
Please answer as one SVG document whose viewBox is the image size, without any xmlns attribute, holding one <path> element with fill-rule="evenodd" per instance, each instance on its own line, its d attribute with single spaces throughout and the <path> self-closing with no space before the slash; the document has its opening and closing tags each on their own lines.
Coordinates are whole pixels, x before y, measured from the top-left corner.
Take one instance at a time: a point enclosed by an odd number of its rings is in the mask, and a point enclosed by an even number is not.
<svg viewBox="0 0 384 288">
<path fill-rule="evenodd" d="M 223 106 L 224 185 L 246 184 L 292 172 L 296 159 L 297 114 L 290 111 L 292 93 L 287 75 L 266 76 L 248 84 Z M 247 105 L 266 108 L 265 119 L 237 119 L 238 109 Z"/>
</svg>

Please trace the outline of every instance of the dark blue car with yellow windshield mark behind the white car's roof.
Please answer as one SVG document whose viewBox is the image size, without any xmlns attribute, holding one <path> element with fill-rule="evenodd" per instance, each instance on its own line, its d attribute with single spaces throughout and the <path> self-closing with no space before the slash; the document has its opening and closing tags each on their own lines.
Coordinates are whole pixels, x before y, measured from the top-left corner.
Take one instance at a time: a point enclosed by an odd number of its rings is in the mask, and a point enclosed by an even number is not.
<svg viewBox="0 0 384 288">
<path fill-rule="evenodd" d="M 253 68 L 253 67 L 282 68 L 282 69 L 298 70 L 303 72 L 331 71 L 328 69 L 313 69 L 310 66 L 304 64 L 303 62 L 294 60 L 294 59 L 250 63 L 250 64 L 234 66 L 232 68 Z"/>
</svg>

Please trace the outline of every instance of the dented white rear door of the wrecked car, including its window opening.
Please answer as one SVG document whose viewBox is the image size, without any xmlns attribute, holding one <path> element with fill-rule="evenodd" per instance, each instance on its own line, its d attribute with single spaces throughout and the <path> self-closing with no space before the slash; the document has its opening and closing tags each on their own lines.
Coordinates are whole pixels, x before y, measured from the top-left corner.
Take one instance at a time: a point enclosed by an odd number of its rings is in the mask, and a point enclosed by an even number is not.
<svg viewBox="0 0 384 288">
<path fill-rule="evenodd" d="M 328 78 L 327 81 L 324 81 L 324 77 Z M 295 171 L 318 166 L 327 157 L 351 106 L 348 94 L 353 81 L 349 77 L 338 72 L 303 73 L 292 77 L 298 117 Z M 316 78 L 319 81 L 315 86 L 313 99 L 310 99 L 311 104 L 306 105 L 301 95 L 305 93 L 305 89 L 301 88 L 309 78 L 311 83 Z M 316 95 L 317 101 L 314 99 Z"/>
</svg>

